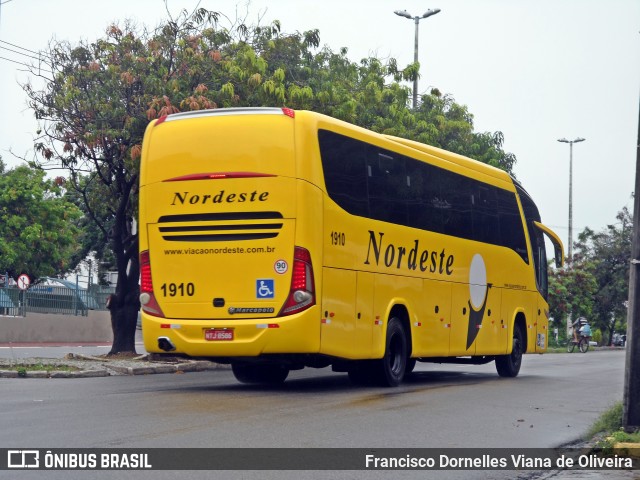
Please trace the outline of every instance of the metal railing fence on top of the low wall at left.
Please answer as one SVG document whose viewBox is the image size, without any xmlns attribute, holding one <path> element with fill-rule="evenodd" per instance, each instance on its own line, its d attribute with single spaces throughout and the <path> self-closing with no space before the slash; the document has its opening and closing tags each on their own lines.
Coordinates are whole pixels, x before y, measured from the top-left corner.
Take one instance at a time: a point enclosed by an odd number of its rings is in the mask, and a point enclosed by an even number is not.
<svg viewBox="0 0 640 480">
<path fill-rule="evenodd" d="M 0 315 L 25 316 L 27 312 L 87 316 L 89 310 L 106 310 L 113 287 L 91 285 L 65 287 L 36 284 L 27 290 L 16 286 L 0 288 Z"/>
</svg>

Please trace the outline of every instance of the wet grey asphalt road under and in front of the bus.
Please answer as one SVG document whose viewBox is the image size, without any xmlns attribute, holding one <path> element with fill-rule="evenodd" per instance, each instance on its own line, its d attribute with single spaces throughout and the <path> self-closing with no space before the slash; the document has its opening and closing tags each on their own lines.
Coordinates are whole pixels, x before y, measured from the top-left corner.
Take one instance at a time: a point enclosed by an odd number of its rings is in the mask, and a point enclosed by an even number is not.
<svg viewBox="0 0 640 480">
<path fill-rule="evenodd" d="M 0 448 L 556 447 L 622 398 L 625 352 L 528 355 L 516 379 L 493 364 L 418 364 L 396 389 L 292 372 L 279 388 L 230 371 L 88 379 L 0 379 Z M 20 472 L 19 478 L 87 478 Z M 189 472 L 192 478 L 390 478 L 391 472 Z M 113 475 L 112 475 L 113 474 Z M 119 476 L 120 475 L 120 476 Z M 91 478 L 121 478 L 93 472 Z M 175 478 L 133 472 L 127 478 Z M 17 477 L 16 477 L 17 478 Z M 515 478 L 513 472 L 396 472 L 392 478 Z"/>
</svg>

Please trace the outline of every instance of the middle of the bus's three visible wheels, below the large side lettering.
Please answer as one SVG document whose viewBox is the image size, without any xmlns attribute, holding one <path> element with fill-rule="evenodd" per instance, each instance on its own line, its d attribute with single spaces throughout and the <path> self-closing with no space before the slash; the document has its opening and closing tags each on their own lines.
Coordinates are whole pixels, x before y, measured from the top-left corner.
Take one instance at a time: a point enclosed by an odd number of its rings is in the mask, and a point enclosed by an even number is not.
<svg viewBox="0 0 640 480">
<path fill-rule="evenodd" d="M 387 343 L 384 356 L 375 362 L 375 377 L 384 387 L 397 387 L 407 368 L 407 335 L 399 318 L 392 318 L 387 325 Z"/>
</svg>

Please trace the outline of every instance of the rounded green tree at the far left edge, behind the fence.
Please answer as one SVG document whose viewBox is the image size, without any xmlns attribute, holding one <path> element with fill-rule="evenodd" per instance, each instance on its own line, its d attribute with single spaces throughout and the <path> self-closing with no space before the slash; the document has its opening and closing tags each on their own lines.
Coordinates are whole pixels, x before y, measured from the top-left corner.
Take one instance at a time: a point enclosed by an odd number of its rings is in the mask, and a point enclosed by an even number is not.
<svg viewBox="0 0 640 480">
<path fill-rule="evenodd" d="M 0 271 L 34 281 L 72 266 L 80 211 L 63 197 L 60 179 L 26 166 L 4 171 L 0 158 Z"/>
</svg>

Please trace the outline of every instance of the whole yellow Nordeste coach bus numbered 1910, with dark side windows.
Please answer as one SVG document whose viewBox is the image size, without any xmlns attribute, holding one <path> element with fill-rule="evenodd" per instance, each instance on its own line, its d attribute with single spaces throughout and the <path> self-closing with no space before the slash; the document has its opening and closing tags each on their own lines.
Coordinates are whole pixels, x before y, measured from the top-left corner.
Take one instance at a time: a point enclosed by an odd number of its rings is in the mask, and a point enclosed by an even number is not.
<svg viewBox="0 0 640 480">
<path fill-rule="evenodd" d="M 417 361 L 515 377 L 549 338 L 546 236 L 507 173 L 287 108 L 151 122 L 140 172 L 148 352 L 397 386 Z"/>
</svg>

